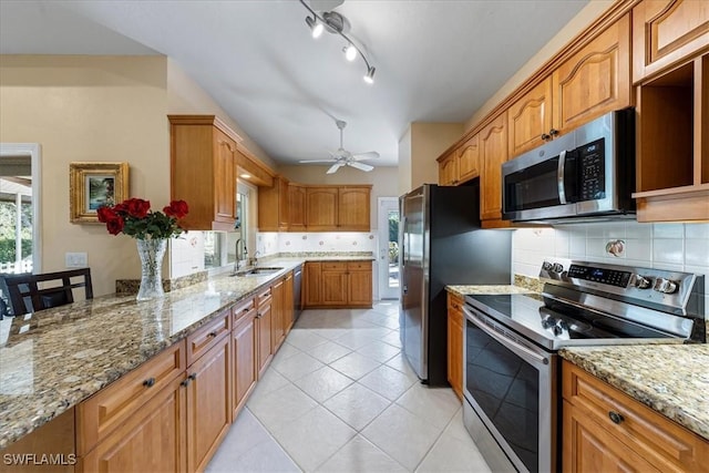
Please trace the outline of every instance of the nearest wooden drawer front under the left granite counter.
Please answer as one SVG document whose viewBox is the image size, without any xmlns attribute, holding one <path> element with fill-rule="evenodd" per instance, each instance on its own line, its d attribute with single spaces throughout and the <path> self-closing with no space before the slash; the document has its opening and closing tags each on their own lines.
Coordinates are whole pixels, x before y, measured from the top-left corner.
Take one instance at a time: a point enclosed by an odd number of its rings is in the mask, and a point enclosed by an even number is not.
<svg viewBox="0 0 709 473">
<path fill-rule="evenodd" d="M 178 341 L 80 403 L 76 454 L 93 449 L 185 369 L 185 342 Z"/>
</svg>

